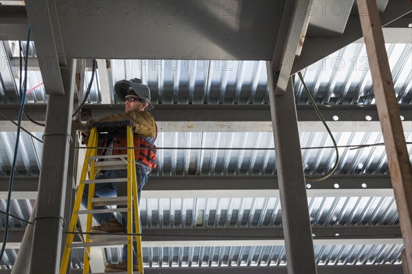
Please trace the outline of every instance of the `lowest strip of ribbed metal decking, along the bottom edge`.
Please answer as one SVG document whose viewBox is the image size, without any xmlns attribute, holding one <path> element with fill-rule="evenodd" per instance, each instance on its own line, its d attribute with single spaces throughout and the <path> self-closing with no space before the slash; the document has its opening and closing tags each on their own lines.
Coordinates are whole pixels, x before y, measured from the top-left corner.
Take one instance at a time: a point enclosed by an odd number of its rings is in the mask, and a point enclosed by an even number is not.
<svg viewBox="0 0 412 274">
<path fill-rule="evenodd" d="M 402 248 L 403 244 L 319 245 L 314 255 L 317 265 L 400 264 Z M 104 249 L 106 260 L 113 263 L 122 261 L 120 252 Z M 146 267 L 285 266 L 286 253 L 284 246 L 150 247 L 143 249 L 143 260 Z"/>
</svg>

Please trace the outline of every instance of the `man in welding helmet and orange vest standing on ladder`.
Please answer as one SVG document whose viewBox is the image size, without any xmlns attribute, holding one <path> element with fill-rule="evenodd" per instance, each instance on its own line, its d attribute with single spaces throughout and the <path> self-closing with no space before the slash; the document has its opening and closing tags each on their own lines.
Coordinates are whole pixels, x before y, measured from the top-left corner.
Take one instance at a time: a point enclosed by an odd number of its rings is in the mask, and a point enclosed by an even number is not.
<svg viewBox="0 0 412 274">
<path fill-rule="evenodd" d="M 138 201 L 140 202 L 141 188 L 148 180 L 148 174 L 152 168 L 156 168 L 155 138 L 157 126 L 152 114 L 148 111 L 153 109 L 150 104 L 150 90 L 146 84 L 142 84 L 140 79 L 121 80 L 115 84 L 115 92 L 119 98 L 126 102 L 124 113 L 110 115 L 98 119 L 99 122 L 113 122 L 130 120 L 133 125 L 134 146 L 149 147 L 154 149 L 135 150 L 136 178 L 138 189 Z M 126 149 L 116 149 L 116 147 L 127 147 L 127 139 L 115 138 L 110 144 L 106 144 L 104 155 L 126 155 Z M 100 172 L 96 179 L 126 178 L 126 170 L 104 170 Z M 87 207 L 88 185 L 85 185 L 82 196 L 82 205 Z M 95 184 L 95 197 L 127 196 L 126 183 L 98 183 Z M 117 206 L 121 207 L 121 206 Z M 106 209 L 106 206 L 95 206 L 94 209 Z M 126 232 L 127 214 L 122 213 L 122 223 L 117 220 L 113 213 L 93 214 L 98 222 L 98 226 L 91 227 L 93 233 L 122 233 Z M 104 272 L 127 271 L 127 245 L 123 247 L 122 262 L 119 264 L 107 264 Z M 138 271 L 136 256 L 133 258 L 133 271 Z"/>
</svg>

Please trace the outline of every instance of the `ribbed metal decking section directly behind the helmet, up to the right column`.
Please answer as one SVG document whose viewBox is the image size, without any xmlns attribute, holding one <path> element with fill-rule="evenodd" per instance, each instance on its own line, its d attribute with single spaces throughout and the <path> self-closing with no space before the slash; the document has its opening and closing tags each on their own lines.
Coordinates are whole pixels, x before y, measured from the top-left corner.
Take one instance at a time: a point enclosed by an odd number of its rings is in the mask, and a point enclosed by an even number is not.
<svg viewBox="0 0 412 274">
<path fill-rule="evenodd" d="M 266 65 L 234 60 L 112 60 L 113 80 L 141 78 L 156 104 L 267 104 Z"/>
</svg>

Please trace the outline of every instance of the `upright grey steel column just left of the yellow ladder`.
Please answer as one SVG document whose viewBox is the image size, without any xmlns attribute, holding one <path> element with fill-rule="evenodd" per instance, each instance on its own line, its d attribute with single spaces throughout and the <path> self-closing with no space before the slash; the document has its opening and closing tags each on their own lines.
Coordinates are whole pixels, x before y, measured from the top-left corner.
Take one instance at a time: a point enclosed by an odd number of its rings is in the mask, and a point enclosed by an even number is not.
<svg viewBox="0 0 412 274">
<path fill-rule="evenodd" d="M 49 95 L 30 273 L 58 273 L 76 61 L 62 70 L 65 95 Z M 47 261 L 47 264 L 44 262 Z"/>
</svg>

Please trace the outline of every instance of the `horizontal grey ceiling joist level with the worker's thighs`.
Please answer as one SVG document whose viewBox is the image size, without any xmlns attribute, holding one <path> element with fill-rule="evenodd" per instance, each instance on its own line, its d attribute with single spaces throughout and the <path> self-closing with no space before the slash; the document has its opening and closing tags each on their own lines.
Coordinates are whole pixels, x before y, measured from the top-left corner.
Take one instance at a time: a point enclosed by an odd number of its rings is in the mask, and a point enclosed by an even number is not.
<svg viewBox="0 0 412 274">
<path fill-rule="evenodd" d="M 8 177 L 1 178 L 0 198 L 7 194 Z M 253 184 L 251 184 L 253 182 Z M 339 188 L 336 188 L 336 184 Z M 36 198 L 38 177 L 14 179 L 12 198 Z M 309 187 L 309 186 L 308 186 Z M 393 196 L 388 175 L 331 176 L 312 183 L 309 197 Z M 276 176 L 150 176 L 142 198 L 258 198 L 279 197 Z"/>
</svg>

